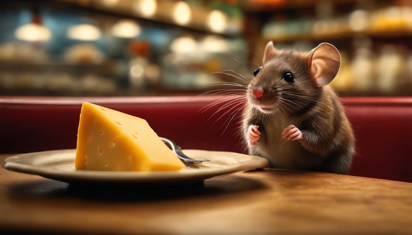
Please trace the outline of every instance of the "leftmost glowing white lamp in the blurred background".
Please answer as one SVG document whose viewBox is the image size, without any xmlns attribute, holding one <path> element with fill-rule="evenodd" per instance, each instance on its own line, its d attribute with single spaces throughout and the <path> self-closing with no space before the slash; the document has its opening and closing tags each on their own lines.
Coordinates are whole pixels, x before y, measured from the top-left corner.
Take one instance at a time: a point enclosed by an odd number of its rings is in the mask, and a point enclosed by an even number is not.
<svg viewBox="0 0 412 235">
<path fill-rule="evenodd" d="M 52 32 L 42 25 L 29 23 L 17 28 L 15 35 L 20 40 L 42 42 L 49 40 L 52 37 Z"/>
</svg>

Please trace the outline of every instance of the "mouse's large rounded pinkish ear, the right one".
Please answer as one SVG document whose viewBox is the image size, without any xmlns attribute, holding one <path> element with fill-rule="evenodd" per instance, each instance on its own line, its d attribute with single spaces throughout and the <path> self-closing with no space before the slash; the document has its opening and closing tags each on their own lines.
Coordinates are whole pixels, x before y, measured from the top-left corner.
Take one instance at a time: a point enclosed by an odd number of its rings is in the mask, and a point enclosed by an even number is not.
<svg viewBox="0 0 412 235">
<path fill-rule="evenodd" d="M 328 85 L 339 72 L 340 54 L 332 44 L 319 44 L 310 51 L 308 59 L 316 86 Z"/>
</svg>

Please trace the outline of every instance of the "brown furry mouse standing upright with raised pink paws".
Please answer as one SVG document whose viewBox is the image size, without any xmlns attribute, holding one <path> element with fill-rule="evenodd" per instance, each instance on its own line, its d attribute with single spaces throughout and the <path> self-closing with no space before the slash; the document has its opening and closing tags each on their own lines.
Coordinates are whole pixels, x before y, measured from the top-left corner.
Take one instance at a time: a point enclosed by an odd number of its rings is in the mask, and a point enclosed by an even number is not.
<svg viewBox="0 0 412 235">
<path fill-rule="evenodd" d="M 249 154 L 266 158 L 267 168 L 348 174 L 355 138 L 328 86 L 340 64 L 329 43 L 301 52 L 268 42 L 247 86 L 241 119 Z"/>
</svg>

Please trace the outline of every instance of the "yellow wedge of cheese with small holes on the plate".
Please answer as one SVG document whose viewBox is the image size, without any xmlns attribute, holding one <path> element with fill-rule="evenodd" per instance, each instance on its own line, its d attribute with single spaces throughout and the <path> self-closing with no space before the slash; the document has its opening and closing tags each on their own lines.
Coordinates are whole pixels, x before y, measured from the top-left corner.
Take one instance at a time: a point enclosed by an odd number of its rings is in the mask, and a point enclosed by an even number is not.
<svg viewBox="0 0 412 235">
<path fill-rule="evenodd" d="M 83 103 L 77 170 L 166 171 L 184 167 L 144 119 Z"/>
</svg>

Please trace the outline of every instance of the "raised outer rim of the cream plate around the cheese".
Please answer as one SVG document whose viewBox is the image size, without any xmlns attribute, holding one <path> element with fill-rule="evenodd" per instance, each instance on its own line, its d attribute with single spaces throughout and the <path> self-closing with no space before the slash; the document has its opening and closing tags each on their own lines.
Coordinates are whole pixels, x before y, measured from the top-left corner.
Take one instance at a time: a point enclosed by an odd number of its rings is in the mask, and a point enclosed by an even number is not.
<svg viewBox="0 0 412 235">
<path fill-rule="evenodd" d="M 213 170 L 204 170 L 201 172 L 186 172 L 185 174 L 176 174 L 176 172 L 171 171 L 156 171 L 153 172 L 114 172 L 114 171 L 87 171 L 86 174 L 80 173 L 80 171 L 60 171 L 57 169 L 47 169 L 40 166 L 29 165 L 26 163 L 16 163 L 14 158 L 27 155 L 38 155 L 38 154 L 53 154 L 53 153 L 62 153 L 75 151 L 76 149 L 59 149 L 59 150 L 49 150 L 49 151 L 38 151 L 27 154 L 18 154 L 14 156 L 9 156 L 5 158 L 2 162 L 2 167 L 5 170 L 11 170 L 15 172 L 30 174 L 30 175 L 39 175 L 48 179 L 66 179 L 66 180 L 75 180 L 75 181 L 105 181 L 105 182 L 118 182 L 118 181 L 133 181 L 133 182 L 172 182 L 172 181 L 185 181 L 187 179 L 207 179 L 219 175 L 227 175 L 235 172 L 242 172 L 247 170 L 254 170 L 258 168 L 264 168 L 269 163 L 267 159 L 252 156 L 246 154 L 240 154 L 230 151 L 209 151 L 201 149 L 184 149 L 183 151 L 207 151 L 207 152 L 218 152 L 218 153 L 232 153 L 248 156 L 250 163 L 234 163 L 231 165 L 224 165 L 221 168 L 216 168 Z M 110 172 L 110 173 L 109 173 Z M 136 174 L 137 173 L 137 174 Z M 58 179 L 57 179 L 58 180 Z"/>
</svg>

